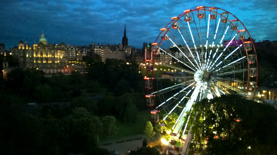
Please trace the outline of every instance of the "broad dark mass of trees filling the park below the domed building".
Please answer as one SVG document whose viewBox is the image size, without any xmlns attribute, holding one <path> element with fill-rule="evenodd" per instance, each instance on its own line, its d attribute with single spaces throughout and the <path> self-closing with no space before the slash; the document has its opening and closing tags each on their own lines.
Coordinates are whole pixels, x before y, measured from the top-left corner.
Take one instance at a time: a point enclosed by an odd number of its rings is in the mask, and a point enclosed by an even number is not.
<svg viewBox="0 0 277 155">
<path fill-rule="evenodd" d="M 135 62 L 104 64 L 97 56 L 84 61 L 86 74 L 46 78 L 40 70 L 21 68 L 8 73 L 0 83 L 0 154 L 109 154 L 98 140 L 116 134 L 116 126 L 107 133 L 114 117 L 132 123 L 145 110 L 143 77 Z"/>
</svg>

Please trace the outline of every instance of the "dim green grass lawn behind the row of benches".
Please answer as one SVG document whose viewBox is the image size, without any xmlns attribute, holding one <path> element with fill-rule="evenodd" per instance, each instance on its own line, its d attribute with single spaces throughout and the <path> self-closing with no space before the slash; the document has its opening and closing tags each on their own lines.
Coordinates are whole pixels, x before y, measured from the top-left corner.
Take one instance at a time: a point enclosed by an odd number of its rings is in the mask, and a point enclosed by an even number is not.
<svg viewBox="0 0 277 155">
<path fill-rule="evenodd" d="M 150 121 L 150 110 L 140 112 L 137 115 L 136 123 L 123 123 L 119 120 L 116 121 L 116 126 L 119 128 L 117 135 L 111 136 L 112 139 L 120 139 L 132 135 L 143 134 L 143 130 L 147 121 Z M 107 141 L 109 138 L 99 138 L 100 141 Z"/>
</svg>

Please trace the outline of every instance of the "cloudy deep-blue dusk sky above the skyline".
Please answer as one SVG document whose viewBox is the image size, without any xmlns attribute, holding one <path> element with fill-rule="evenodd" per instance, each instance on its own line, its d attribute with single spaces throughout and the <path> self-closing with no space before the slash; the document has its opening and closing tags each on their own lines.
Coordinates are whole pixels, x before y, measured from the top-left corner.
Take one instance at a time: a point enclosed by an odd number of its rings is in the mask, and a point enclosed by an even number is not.
<svg viewBox="0 0 277 155">
<path fill-rule="evenodd" d="M 126 25 L 129 45 L 154 42 L 171 17 L 211 6 L 234 14 L 257 41 L 277 40 L 276 0 L 1 0 L 0 42 L 6 49 L 20 40 L 38 43 L 118 44 Z"/>
</svg>

